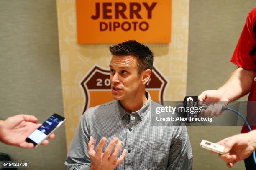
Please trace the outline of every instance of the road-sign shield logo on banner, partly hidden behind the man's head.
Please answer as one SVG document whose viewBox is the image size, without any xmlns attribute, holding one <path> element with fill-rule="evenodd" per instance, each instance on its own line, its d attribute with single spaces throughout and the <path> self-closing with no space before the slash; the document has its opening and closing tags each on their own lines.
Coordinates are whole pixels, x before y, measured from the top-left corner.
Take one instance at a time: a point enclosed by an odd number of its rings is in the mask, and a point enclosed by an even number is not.
<svg viewBox="0 0 256 170">
<path fill-rule="evenodd" d="M 168 81 L 153 67 L 150 79 L 146 84 L 146 90 L 151 95 L 151 100 L 163 101 L 164 91 Z M 81 81 L 84 90 L 84 109 L 101 105 L 113 100 L 110 82 L 110 70 L 94 65 Z"/>
</svg>

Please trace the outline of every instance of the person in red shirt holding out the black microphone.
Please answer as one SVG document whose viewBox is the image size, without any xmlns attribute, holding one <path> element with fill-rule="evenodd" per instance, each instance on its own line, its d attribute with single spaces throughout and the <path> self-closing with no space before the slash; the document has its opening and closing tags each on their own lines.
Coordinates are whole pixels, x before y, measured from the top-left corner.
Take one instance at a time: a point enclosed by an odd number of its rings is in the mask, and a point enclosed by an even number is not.
<svg viewBox="0 0 256 170">
<path fill-rule="evenodd" d="M 240 35 L 231 62 L 238 66 L 228 81 L 218 90 L 207 90 L 198 96 L 199 101 L 230 101 L 248 94 L 248 101 L 256 101 L 256 7 L 248 13 L 246 23 Z M 210 105 L 203 112 L 204 116 L 221 114 L 221 105 Z M 256 105 L 248 102 L 247 120 L 256 125 Z M 256 126 L 251 126 L 252 130 Z M 248 127 L 243 126 L 241 133 L 247 133 Z M 244 160 L 246 169 L 255 169 L 253 155 Z"/>
</svg>

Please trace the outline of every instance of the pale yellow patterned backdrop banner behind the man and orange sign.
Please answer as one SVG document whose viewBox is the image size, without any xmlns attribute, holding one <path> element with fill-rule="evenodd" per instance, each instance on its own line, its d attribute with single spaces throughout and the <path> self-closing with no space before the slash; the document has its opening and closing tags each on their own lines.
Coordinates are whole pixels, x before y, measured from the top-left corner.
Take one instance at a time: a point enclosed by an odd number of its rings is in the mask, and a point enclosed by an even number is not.
<svg viewBox="0 0 256 170">
<path fill-rule="evenodd" d="M 108 69 L 111 54 L 108 50 L 110 44 L 77 44 L 75 0 L 57 0 L 57 13 L 69 150 L 86 100 L 81 83 L 95 65 Z M 172 0 L 171 43 L 147 44 L 154 52 L 154 67 L 169 82 L 163 93 L 163 100 L 183 100 L 186 94 L 188 19 L 189 0 Z"/>
</svg>

